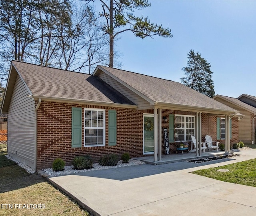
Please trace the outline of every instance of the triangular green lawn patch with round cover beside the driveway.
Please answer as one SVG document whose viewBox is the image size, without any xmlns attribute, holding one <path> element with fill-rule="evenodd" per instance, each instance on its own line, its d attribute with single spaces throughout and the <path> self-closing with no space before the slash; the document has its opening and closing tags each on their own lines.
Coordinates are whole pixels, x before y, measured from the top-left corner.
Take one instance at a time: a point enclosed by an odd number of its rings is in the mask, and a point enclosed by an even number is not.
<svg viewBox="0 0 256 216">
<path fill-rule="evenodd" d="M 218 169 L 228 169 L 229 171 L 218 172 Z M 191 173 L 224 182 L 256 187 L 256 159 L 229 164 L 226 166 L 196 170 Z"/>
</svg>

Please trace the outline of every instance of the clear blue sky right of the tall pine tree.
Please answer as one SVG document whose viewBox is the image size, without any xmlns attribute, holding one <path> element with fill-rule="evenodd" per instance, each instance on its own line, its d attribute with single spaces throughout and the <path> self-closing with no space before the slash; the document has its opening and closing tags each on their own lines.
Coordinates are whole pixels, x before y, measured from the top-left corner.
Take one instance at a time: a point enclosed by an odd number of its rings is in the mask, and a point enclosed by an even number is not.
<svg viewBox="0 0 256 216">
<path fill-rule="evenodd" d="M 149 0 L 136 13 L 172 30 L 172 38 L 120 34 L 122 69 L 180 82 L 190 49 L 211 65 L 216 94 L 256 96 L 256 1 Z"/>
</svg>

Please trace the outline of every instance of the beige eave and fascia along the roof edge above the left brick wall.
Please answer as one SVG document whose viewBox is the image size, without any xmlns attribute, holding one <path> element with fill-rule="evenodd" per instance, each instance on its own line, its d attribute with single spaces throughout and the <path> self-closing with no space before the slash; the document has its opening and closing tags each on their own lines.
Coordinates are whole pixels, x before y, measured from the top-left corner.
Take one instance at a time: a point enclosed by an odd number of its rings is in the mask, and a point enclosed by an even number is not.
<svg viewBox="0 0 256 216">
<path fill-rule="evenodd" d="M 130 109 L 136 109 L 138 107 L 137 105 L 131 105 L 131 104 L 118 104 L 118 103 L 110 103 L 110 102 L 99 102 L 94 100 L 80 100 L 80 99 L 73 99 L 73 98 L 56 98 L 56 97 L 39 96 L 39 95 L 32 95 L 32 98 L 34 98 L 35 100 L 38 100 L 39 98 L 41 98 L 42 101 L 49 101 L 49 102 L 88 104 L 88 105 L 111 106 L 111 107 L 130 108 Z"/>
</svg>

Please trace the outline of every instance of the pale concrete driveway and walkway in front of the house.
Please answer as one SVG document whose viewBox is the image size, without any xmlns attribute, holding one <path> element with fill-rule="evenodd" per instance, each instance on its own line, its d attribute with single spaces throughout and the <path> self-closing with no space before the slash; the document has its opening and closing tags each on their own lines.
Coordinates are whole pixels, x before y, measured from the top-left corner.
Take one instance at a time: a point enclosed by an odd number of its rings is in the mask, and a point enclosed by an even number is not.
<svg viewBox="0 0 256 216">
<path fill-rule="evenodd" d="M 255 215 L 256 187 L 189 173 L 256 158 L 256 150 L 235 154 L 242 156 L 202 164 L 142 164 L 48 180 L 95 215 Z"/>
</svg>

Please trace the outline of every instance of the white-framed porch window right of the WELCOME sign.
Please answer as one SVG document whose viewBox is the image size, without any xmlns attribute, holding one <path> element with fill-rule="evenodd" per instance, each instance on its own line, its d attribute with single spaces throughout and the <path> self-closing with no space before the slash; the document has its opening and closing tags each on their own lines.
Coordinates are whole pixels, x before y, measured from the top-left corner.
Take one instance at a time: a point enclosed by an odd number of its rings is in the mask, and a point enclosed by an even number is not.
<svg viewBox="0 0 256 216">
<path fill-rule="evenodd" d="M 195 116 L 175 115 L 175 140 L 190 141 L 195 134 Z"/>
</svg>

